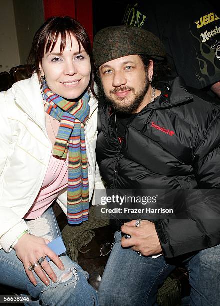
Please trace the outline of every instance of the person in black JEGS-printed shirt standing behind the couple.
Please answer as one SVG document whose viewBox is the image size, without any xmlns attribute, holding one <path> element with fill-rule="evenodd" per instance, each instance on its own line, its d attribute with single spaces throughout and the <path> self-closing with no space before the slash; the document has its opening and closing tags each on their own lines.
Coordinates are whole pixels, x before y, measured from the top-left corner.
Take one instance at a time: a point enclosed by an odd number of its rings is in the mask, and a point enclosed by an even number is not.
<svg viewBox="0 0 220 306">
<path fill-rule="evenodd" d="M 158 36 L 166 48 L 172 75 L 180 75 L 188 86 L 214 92 L 220 98 L 220 18 L 210 2 L 128 0 L 119 22 Z"/>
</svg>

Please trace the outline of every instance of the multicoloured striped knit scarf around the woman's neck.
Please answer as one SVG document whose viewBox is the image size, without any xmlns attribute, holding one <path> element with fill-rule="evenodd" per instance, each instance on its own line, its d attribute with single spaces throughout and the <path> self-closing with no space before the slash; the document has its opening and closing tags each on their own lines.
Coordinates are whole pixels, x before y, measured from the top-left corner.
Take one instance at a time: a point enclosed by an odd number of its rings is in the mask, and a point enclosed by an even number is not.
<svg viewBox="0 0 220 306">
<path fill-rule="evenodd" d="M 67 219 L 69 224 L 88 220 L 89 182 L 84 124 L 89 116 L 89 95 L 67 101 L 53 93 L 44 83 L 45 111 L 60 121 L 53 155 L 66 159 L 69 151 Z"/>
</svg>

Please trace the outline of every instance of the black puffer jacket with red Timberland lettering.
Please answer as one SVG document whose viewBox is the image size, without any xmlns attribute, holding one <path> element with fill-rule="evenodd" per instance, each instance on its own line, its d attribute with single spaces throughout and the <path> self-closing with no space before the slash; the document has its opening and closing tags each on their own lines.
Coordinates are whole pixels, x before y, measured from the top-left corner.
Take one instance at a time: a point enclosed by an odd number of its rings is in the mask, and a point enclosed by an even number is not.
<svg viewBox="0 0 220 306">
<path fill-rule="evenodd" d="M 123 145 L 100 100 L 96 156 L 110 188 L 220 188 L 220 107 L 189 93 L 180 77 L 167 87 L 128 122 Z M 155 222 L 166 257 L 220 244 L 220 219 L 209 217 L 213 209 L 219 213 L 218 198 L 207 197 L 198 205 L 205 207 L 206 219 L 197 208 L 186 219 Z"/>
</svg>

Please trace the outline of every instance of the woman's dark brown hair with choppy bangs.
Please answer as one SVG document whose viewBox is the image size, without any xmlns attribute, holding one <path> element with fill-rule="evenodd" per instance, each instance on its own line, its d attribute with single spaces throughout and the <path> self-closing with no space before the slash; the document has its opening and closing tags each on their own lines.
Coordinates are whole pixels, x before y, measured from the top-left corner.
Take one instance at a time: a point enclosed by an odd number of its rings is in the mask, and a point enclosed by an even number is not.
<svg viewBox="0 0 220 306">
<path fill-rule="evenodd" d="M 34 65 L 34 70 L 40 80 L 40 69 L 39 65 L 42 63 L 44 51 L 47 53 L 49 50 L 52 51 L 55 47 L 59 35 L 61 36 L 60 52 L 62 53 L 66 46 L 66 40 L 68 35 L 73 34 L 79 44 L 80 43 L 89 55 L 91 62 L 91 75 L 89 81 L 89 87 L 92 94 L 96 97 L 94 92 L 94 74 L 95 66 L 93 60 L 93 53 L 91 43 L 84 27 L 76 20 L 66 17 L 51 17 L 47 19 L 43 25 L 37 30 L 34 35 L 32 47 L 27 59 L 28 64 Z"/>
</svg>

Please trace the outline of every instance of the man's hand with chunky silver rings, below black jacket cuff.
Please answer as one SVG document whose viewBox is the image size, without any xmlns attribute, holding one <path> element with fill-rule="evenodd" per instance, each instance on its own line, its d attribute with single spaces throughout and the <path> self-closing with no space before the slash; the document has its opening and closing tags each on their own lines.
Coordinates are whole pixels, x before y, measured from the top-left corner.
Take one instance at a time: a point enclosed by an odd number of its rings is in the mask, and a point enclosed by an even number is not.
<svg viewBox="0 0 220 306">
<path fill-rule="evenodd" d="M 140 226 L 135 227 L 135 220 L 121 226 L 123 233 L 129 234 L 130 239 L 121 239 L 122 247 L 131 247 L 144 256 L 156 255 L 162 252 L 154 223 L 142 220 Z"/>
</svg>

